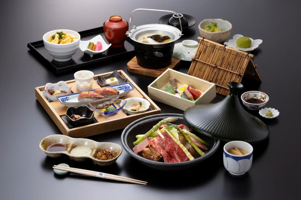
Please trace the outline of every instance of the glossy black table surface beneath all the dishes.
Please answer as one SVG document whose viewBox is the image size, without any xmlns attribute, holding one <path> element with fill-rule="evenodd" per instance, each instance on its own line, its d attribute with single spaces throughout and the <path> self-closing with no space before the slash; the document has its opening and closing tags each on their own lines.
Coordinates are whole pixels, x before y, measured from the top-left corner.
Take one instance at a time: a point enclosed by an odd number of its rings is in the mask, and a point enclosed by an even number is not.
<svg viewBox="0 0 301 200">
<path fill-rule="evenodd" d="M 253 145 L 253 165 L 242 177 L 224 168 L 221 142 L 218 151 L 200 165 L 180 172 L 148 168 L 125 151 L 116 164 L 107 167 L 92 161 L 77 163 L 63 156 L 52 159 L 40 151 L 45 136 L 61 134 L 36 100 L 34 88 L 47 82 L 73 79 L 73 72 L 56 75 L 27 49 L 28 42 L 59 28 L 75 31 L 99 27 L 111 15 L 129 20 L 136 8 L 174 10 L 194 16 L 197 24 L 180 38 L 197 40 L 197 25 L 203 19 L 222 18 L 232 23 L 234 34 L 263 43 L 254 62 L 262 83 L 243 80 L 244 89 L 259 90 L 270 97 L 268 107 L 280 115 L 263 120 L 270 129 L 266 142 Z M 297 199 L 300 186 L 300 4 L 295 1 L 3 1 L 1 3 L 1 115 L 0 199 Z M 89 12 L 89 10 L 94 12 Z M 157 23 L 166 13 L 137 12 L 135 24 Z M 94 74 L 124 70 L 147 93 L 154 78 L 129 73 L 131 57 L 86 67 Z M 187 73 L 190 63 L 179 71 Z M 241 94 L 240 92 L 240 94 Z M 222 100 L 216 97 L 213 102 Z M 155 102 L 163 113 L 182 113 Z M 252 112 L 259 116 L 257 112 Z M 98 142 L 120 144 L 122 130 L 89 137 Z M 142 133 L 137 133 L 142 134 Z M 148 181 L 146 186 L 100 180 L 71 174 L 59 176 L 52 166 L 101 171 Z"/>
</svg>

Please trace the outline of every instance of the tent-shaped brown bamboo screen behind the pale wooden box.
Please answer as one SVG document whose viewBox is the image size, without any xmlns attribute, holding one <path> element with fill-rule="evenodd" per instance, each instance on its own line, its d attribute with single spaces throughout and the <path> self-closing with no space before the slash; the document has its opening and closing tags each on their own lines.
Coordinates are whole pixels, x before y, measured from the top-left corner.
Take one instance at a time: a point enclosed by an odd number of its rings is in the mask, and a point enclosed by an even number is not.
<svg viewBox="0 0 301 200">
<path fill-rule="evenodd" d="M 254 55 L 198 37 L 200 43 L 188 74 L 216 84 L 216 92 L 229 94 L 229 81 L 241 82 L 246 75 L 261 81 Z M 251 61 L 251 62 L 249 62 Z"/>
</svg>

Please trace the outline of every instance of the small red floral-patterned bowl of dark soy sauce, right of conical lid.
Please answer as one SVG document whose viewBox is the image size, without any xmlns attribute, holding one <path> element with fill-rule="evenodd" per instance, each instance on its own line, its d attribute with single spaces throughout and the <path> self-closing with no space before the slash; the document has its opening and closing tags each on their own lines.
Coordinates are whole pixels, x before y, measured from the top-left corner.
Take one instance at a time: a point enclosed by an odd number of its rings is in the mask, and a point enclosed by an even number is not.
<svg viewBox="0 0 301 200">
<path fill-rule="evenodd" d="M 262 109 L 268 103 L 268 95 L 260 91 L 247 91 L 240 96 L 243 104 L 250 110 Z M 259 99 L 262 103 L 249 103 L 249 99 Z"/>
</svg>

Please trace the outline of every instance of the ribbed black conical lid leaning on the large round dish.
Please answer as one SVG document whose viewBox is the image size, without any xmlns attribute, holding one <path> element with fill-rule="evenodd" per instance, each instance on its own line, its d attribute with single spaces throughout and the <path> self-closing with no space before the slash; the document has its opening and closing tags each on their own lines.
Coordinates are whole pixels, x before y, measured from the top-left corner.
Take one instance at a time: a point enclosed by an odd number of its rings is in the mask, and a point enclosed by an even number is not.
<svg viewBox="0 0 301 200">
<path fill-rule="evenodd" d="M 268 127 L 259 118 L 246 112 L 240 105 L 237 93 L 244 86 L 228 82 L 230 94 L 219 103 L 191 106 L 184 119 L 195 130 L 207 136 L 224 140 L 241 140 L 249 143 L 268 138 Z"/>
</svg>

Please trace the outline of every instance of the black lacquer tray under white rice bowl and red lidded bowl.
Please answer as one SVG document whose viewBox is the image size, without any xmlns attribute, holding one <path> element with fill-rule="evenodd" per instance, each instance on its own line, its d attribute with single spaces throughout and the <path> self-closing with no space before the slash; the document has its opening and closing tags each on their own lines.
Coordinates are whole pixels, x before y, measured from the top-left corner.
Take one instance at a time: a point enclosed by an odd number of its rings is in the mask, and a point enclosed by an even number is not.
<svg viewBox="0 0 301 200">
<path fill-rule="evenodd" d="M 93 28 L 86 31 L 79 31 L 78 33 L 80 34 L 81 40 L 90 40 L 96 35 L 100 34 L 107 42 L 106 38 L 104 37 L 103 27 Z M 94 55 L 93 57 L 90 57 L 90 55 L 85 54 L 80 49 L 78 49 L 77 52 L 72 56 L 72 59 L 66 62 L 58 62 L 53 60 L 52 56 L 46 51 L 43 40 L 28 43 L 27 47 L 34 52 L 36 57 L 40 58 L 42 61 L 45 61 L 45 63 L 47 63 L 55 73 L 62 73 L 73 69 L 79 69 L 89 64 L 116 58 L 122 55 L 134 56 L 134 46 L 132 43 L 133 41 L 127 38 L 124 42 L 124 47 L 110 47 L 104 53 Z"/>
</svg>

